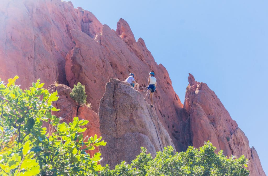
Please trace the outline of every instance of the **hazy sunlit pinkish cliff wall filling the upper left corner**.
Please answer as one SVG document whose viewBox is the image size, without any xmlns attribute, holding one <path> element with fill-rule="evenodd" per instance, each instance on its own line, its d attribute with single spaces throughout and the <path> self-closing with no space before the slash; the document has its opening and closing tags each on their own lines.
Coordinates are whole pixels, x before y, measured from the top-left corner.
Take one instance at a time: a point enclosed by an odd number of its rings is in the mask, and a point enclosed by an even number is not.
<svg viewBox="0 0 268 176">
<path fill-rule="evenodd" d="M 70 1 L 3 0 L 0 12 L 1 79 L 18 75 L 22 88 L 38 78 L 45 86 L 57 80 L 68 84 L 65 56 L 75 47 L 70 30 L 95 38 L 102 27 L 91 12 L 74 9 Z"/>
</svg>

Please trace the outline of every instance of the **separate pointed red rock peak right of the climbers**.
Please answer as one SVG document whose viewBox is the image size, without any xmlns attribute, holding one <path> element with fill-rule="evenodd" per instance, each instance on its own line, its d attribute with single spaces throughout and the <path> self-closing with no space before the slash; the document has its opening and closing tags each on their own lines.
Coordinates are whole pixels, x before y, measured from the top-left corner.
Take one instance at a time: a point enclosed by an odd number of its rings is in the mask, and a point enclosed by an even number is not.
<svg viewBox="0 0 268 176">
<path fill-rule="evenodd" d="M 210 140 L 227 156 L 236 155 L 249 160 L 250 175 L 265 176 L 257 152 L 250 148 L 248 138 L 232 120 L 228 111 L 207 84 L 195 81 L 189 74 L 184 109 L 189 114 L 191 138 L 194 147 L 201 147 Z"/>
</svg>

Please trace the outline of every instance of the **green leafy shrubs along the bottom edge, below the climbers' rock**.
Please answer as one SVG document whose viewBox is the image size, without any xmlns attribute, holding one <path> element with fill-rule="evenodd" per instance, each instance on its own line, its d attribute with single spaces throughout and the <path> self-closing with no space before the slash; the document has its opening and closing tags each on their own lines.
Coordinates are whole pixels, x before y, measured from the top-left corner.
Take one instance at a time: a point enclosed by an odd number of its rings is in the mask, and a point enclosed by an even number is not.
<svg viewBox="0 0 268 176">
<path fill-rule="evenodd" d="M 171 146 L 163 152 L 157 152 L 152 159 L 146 149 L 131 164 L 122 161 L 113 170 L 106 167 L 100 172 L 101 176 L 248 176 L 247 159 L 244 155 L 236 159 L 227 158 L 223 151 L 215 153 L 216 147 L 207 142 L 199 149 L 189 147 L 185 152 L 173 152 Z"/>
</svg>

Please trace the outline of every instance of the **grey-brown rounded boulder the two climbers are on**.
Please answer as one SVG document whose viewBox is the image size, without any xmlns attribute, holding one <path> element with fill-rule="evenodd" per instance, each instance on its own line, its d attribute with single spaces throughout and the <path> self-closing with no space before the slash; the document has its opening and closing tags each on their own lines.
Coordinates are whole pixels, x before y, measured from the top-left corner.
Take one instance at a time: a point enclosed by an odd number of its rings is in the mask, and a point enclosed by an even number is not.
<svg viewBox="0 0 268 176">
<path fill-rule="evenodd" d="M 154 108 L 143 98 L 126 82 L 111 78 L 106 84 L 99 107 L 101 134 L 107 142 L 100 148 L 102 165 L 114 168 L 122 160 L 129 163 L 140 153 L 140 147 L 155 156 L 156 151 L 173 145 Z"/>
</svg>

